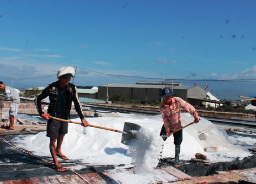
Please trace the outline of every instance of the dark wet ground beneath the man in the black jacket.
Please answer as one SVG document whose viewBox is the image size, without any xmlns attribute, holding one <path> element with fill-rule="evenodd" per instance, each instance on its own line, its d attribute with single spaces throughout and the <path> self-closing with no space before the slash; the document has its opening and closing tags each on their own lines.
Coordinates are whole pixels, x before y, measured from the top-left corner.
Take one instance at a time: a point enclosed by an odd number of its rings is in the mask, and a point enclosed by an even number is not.
<svg viewBox="0 0 256 184">
<path fill-rule="evenodd" d="M 52 162 L 51 157 L 33 157 L 29 155 L 26 150 L 23 151 L 16 149 L 5 142 L 7 141 L 8 143 L 12 144 L 12 140 L 17 136 L 22 135 L 0 136 L 0 181 L 60 174 L 74 174 L 73 172 L 68 170 L 63 173 L 55 171 L 52 164 L 44 161 L 47 160 L 48 162 Z M 79 174 L 95 172 L 95 166 L 93 168 L 92 166 L 81 163 L 80 160 L 59 160 L 59 163 L 63 167 L 68 168 L 80 165 L 82 169 L 76 170 L 76 172 Z M 114 167 L 110 165 L 98 166 L 98 168 L 104 170 L 113 169 Z"/>
</svg>

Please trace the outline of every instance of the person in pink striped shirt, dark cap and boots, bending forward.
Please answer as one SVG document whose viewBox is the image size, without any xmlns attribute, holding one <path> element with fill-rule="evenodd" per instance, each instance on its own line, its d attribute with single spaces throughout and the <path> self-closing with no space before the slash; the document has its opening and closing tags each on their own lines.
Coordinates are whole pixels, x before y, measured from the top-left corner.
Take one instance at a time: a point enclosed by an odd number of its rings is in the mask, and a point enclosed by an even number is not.
<svg viewBox="0 0 256 184">
<path fill-rule="evenodd" d="M 181 114 L 181 109 L 188 111 L 193 117 L 194 122 L 199 122 L 199 117 L 196 109 L 183 99 L 179 97 L 174 97 L 176 93 L 172 92 L 172 89 L 165 87 L 162 89 L 161 95 L 159 97 L 163 98 L 163 102 L 160 104 L 159 109 L 163 117 L 163 127 L 160 135 L 169 137 L 171 132 L 179 129 L 183 125 Z M 180 166 L 180 145 L 182 142 L 182 130 L 176 132 L 174 135 L 174 145 L 175 145 L 175 162 L 174 167 Z"/>
</svg>

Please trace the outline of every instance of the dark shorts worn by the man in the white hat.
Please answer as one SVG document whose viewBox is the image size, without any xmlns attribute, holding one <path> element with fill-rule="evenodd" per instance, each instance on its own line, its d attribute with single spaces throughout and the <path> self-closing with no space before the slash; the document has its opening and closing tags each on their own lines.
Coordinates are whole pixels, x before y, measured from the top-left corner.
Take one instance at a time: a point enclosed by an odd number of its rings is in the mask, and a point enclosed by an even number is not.
<svg viewBox="0 0 256 184">
<path fill-rule="evenodd" d="M 60 134 L 68 133 L 68 123 L 49 119 L 47 121 L 46 136 L 51 139 L 57 139 Z"/>
</svg>

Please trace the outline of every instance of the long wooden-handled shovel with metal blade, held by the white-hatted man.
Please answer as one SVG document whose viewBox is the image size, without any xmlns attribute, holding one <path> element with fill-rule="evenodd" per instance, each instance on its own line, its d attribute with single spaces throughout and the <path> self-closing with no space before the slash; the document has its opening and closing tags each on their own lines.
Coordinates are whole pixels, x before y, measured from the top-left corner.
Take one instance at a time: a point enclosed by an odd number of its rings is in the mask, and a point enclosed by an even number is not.
<svg viewBox="0 0 256 184">
<path fill-rule="evenodd" d="M 62 122 L 75 123 L 75 124 L 81 125 L 81 122 L 65 120 L 65 119 L 56 118 L 56 117 L 52 117 L 52 116 L 49 116 L 49 118 L 54 119 L 54 120 L 59 120 L 59 121 L 62 121 Z M 114 132 L 117 132 L 117 133 L 122 133 L 123 135 L 122 135 L 121 143 L 124 143 L 124 144 L 125 144 L 125 141 L 136 138 L 135 132 L 132 132 L 133 130 L 137 131 L 141 128 L 141 126 L 139 126 L 135 123 L 127 123 L 127 122 L 124 123 L 123 131 L 116 130 L 116 129 L 113 129 L 113 128 L 107 128 L 107 127 L 92 125 L 92 124 L 88 124 L 87 126 L 94 127 L 94 128 L 99 128 L 99 129 L 104 129 L 104 130 L 109 130 L 109 131 L 114 131 Z"/>
</svg>

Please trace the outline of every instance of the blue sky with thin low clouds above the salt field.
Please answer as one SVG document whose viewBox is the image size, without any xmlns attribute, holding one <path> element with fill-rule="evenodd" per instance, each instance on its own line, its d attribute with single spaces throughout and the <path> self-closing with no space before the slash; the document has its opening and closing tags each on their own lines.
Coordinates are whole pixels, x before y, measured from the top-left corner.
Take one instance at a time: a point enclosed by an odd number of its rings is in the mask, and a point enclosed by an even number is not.
<svg viewBox="0 0 256 184">
<path fill-rule="evenodd" d="M 73 66 L 82 86 L 174 79 L 256 95 L 255 17 L 253 0 L 2 0 L 0 80 L 45 86 Z"/>
</svg>

